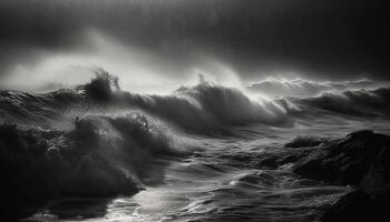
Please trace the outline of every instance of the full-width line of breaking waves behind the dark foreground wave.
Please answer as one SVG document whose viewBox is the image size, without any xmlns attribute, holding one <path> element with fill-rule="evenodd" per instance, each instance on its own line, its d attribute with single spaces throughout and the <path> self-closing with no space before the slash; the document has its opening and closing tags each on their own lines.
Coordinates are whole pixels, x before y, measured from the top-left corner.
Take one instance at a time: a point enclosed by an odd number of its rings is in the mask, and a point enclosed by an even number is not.
<svg viewBox="0 0 390 222">
<path fill-rule="evenodd" d="M 303 82 L 300 85 L 309 84 Z M 369 80 L 344 82 L 341 87 L 329 83 L 324 88 L 344 89 L 368 87 Z M 309 89 L 310 87 L 308 87 Z M 304 90 L 304 92 L 306 92 Z M 261 123 L 289 127 L 300 113 L 321 118 L 324 111 L 351 117 L 388 117 L 389 88 L 373 90 L 326 91 L 316 97 L 285 97 L 274 100 L 253 100 L 238 89 L 207 81 L 194 87 L 182 87 L 168 95 L 137 94 L 121 91 L 118 79 L 101 70 L 89 83 L 74 90 L 46 94 L 0 92 L 0 120 L 16 123 L 48 124 L 69 122 L 85 113 L 118 113 L 138 110 L 185 130 L 207 132 L 231 125 Z M 65 123 L 64 123 L 65 124 Z M 68 123 L 69 124 L 69 123 Z"/>
</svg>

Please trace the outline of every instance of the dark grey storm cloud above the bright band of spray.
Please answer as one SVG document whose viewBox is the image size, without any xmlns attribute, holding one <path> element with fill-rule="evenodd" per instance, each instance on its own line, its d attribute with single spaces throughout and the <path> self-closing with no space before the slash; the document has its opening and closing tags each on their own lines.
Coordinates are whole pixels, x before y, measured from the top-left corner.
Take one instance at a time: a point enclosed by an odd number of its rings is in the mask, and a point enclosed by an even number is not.
<svg viewBox="0 0 390 222">
<path fill-rule="evenodd" d="M 67 49 L 94 28 L 181 65 L 214 57 L 245 78 L 298 70 L 312 78 L 388 79 L 390 68 L 384 1 L 0 2 L 2 67 L 20 56 L 13 49 Z"/>
</svg>

